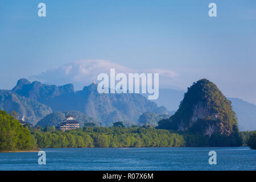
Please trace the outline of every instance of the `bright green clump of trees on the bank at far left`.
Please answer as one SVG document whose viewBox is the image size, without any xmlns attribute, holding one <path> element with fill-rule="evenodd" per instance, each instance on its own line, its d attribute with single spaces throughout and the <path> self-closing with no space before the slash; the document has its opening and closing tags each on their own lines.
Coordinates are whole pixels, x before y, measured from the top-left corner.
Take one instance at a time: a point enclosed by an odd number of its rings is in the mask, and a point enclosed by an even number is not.
<svg viewBox="0 0 256 182">
<path fill-rule="evenodd" d="M 35 150 L 36 140 L 27 127 L 0 110 L 0 151 Z"/>
</svg>

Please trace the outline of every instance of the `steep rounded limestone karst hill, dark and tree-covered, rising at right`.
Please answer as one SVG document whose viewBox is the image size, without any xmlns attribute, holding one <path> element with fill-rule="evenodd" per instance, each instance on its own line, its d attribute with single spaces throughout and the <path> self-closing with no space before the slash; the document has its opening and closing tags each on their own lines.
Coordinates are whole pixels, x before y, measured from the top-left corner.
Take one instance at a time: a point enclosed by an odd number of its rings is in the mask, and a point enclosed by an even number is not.
<svg viewBox="0 0 256 182">
<path fill-rule="evenodd" d="M 231 102 L 213 82 L 204 78 L 188 88 L 176 113 L 160 121 L 158 127 L 209 136 L 213 133 L 229 136 L 236 125 Z"/>
</svg>

